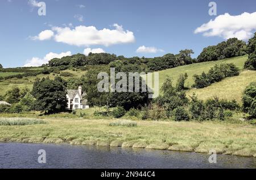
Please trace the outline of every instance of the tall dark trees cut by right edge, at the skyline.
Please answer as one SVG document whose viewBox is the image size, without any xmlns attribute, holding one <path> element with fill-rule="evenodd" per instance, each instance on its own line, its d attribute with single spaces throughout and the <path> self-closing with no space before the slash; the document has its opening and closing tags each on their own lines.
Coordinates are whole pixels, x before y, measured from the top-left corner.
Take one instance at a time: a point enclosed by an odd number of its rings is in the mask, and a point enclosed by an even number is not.
<svg viewBox="0 0 256 180">
<path fill-rule="evenodd" d="M 254 37 L 251 38 L 247 44 L 248 60 L 245 62 L 245 68 L 256 70 L 256 32 Z"/>
</svg>

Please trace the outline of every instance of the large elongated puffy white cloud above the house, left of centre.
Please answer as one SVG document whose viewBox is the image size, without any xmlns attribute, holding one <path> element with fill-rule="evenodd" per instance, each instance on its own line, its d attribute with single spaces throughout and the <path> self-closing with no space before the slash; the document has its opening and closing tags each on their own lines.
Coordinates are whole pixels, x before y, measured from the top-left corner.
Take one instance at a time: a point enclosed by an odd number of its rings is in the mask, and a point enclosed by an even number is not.
<svg viewBox="0 0 256 180">
<path fill-rule="evenodd" d="M 54 40 L 59 43 L 85 47 L 90 45 L 105 45 L 108 47 L 109 45 L 133 43 L 135 41 L 133 32 L 123 30 L 123 27 L 118 24 L 114 24 L 113 27 L 115 27 L 113 30 L 108 28 L 97 30 L 94 26 L 52 27 L 52 31 L 55 32 Z"/>
</svg>

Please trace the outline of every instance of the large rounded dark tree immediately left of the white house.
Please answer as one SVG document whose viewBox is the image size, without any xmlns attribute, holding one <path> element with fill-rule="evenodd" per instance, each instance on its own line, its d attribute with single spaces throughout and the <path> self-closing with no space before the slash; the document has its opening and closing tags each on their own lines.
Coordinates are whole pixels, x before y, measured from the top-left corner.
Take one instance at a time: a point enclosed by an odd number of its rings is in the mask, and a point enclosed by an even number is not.
<svg viewBox="0 0 256 180">
<path fill-rule="evenodd" d="M 60 77 L 56 77 L 54 80 L 36 79 L 31 93 L 36 99 L 35 110 L 47 114 L 65 111 L 68 102 L 66 86 L 67 83 Z"/>
</svg>

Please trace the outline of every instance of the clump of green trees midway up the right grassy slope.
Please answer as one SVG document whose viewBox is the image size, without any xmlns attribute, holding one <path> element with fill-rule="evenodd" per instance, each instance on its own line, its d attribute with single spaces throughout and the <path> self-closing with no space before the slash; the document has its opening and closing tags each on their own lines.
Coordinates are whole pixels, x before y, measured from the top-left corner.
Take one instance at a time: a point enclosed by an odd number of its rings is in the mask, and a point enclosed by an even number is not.
<svg viewBox="0 0 256 180">
<path fill-rule="evenodd" d="M 195 84 L 192 87 L 204 88 L 211 85 L 214 82 L 220 82 L 226 77 L 238 76 L 239 69 L 233 63 L 231 64 L 220 64 L 210 68 L 208 73 L 203 72 L 201 75 L 195 74 Z"/>
</svg>

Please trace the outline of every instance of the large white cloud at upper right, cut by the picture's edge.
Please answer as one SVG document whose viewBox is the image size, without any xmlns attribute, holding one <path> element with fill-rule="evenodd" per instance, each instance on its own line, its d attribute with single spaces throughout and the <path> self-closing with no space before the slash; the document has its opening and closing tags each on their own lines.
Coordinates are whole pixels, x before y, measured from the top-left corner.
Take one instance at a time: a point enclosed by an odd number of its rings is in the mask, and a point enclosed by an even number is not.
<svg viewBox="0 0 256 180">
<path fill-rule="evenodd" d="M 237 37 L 240 40 L 248 40 L 256 30 L 256 12 L 243 12 L 241 15 L 217 16 L 214 20 L 196 28 L 195 34 L 203 33 L 204 36 L 220 36 L 224 39 Z"/>
</svg>

